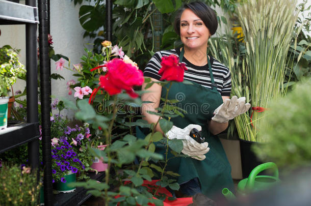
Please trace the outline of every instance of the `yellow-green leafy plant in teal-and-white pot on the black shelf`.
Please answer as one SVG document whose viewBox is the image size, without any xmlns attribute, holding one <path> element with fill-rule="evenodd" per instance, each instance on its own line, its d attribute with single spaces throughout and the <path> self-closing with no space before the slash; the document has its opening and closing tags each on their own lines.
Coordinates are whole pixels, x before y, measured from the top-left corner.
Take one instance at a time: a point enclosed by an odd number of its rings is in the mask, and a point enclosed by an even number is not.
<svg viewBox="0 0 311 206">
<path fill-rule="evenodd" d="M 9 45 L 0 48 L 0 129 L 7 127 L 9 91 L 18 77 L 26 73 L 19 62 L 19 50 Z"/>
</svg>

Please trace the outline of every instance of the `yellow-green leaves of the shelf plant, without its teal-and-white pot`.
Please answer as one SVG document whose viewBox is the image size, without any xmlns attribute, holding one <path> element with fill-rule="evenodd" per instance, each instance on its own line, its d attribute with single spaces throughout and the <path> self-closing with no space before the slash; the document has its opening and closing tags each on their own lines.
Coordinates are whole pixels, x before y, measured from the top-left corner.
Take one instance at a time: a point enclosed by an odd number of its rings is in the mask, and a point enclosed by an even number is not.
<svg viewBox="0 0 311 206">
<path fill-rule="evenodd" d="M 9 87 L 18 77 L 26 74 L 24 66 L 19 62 L 19 50 L 9 45 L 0 48 L 0 97 L 7 96 Z"/>
</svg>

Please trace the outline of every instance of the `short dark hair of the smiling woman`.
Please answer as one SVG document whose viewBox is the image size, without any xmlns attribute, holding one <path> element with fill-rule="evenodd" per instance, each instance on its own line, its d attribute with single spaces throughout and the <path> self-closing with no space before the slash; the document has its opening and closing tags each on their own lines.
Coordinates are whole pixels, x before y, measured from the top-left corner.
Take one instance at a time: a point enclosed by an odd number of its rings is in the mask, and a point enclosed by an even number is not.
<svg viewBox="0 0 311 206">
<path fill-rule="evenodd" d="M 216 33 L 218 27 L 217 15 L 215 11 L 204 4 L 203 2 L 192 2 L 189 4 L 185 4 L 182 8 L 180 8 L 175 16 L 174 21 L 174 30 L 180 36 L 180 17 L 182 16 L 185 9 L 190 9 L 197 15 L 208 27 L 211 35 Z"/>
</svg>

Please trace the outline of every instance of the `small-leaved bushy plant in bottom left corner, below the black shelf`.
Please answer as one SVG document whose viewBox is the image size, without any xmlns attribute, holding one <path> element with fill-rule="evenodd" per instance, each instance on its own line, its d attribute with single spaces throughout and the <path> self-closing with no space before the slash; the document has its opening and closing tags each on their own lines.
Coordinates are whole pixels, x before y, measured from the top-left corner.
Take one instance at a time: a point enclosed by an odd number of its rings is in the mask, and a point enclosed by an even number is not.
<svg viewBox="0 0 311 206">
<path fill-rule="evenodd" d="M 37 205 L 41 181 L 37 171 L 28 167 L 5 164 L 0 168 L 1 205 Z"/>
</svg>

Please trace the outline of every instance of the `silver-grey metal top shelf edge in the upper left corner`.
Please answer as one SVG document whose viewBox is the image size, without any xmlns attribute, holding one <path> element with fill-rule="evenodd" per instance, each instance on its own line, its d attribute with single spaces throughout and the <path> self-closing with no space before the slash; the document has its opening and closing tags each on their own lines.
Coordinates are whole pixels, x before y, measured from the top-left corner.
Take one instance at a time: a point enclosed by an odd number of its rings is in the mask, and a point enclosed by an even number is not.
<svg viewBox="0 0 311 206">
<path fill-rule="evenodd" d="M 39 23 L 38 8 L 0 0 L 0 24 Z"/>
</svg>

